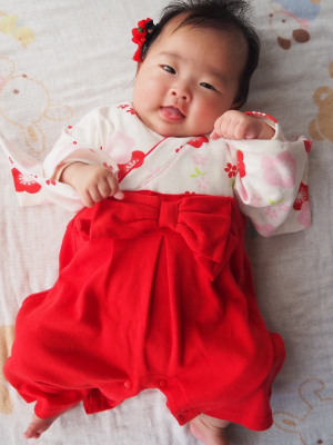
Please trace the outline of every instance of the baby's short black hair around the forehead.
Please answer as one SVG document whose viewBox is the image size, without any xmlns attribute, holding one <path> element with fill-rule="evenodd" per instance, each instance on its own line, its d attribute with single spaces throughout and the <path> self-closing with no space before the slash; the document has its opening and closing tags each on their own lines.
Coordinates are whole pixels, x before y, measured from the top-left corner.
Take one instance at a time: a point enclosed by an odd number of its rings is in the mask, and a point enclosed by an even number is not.
<svg viewBox="0 0 333 445">
<path fill-rule="evenodd" d="M 251 7 L 248 0 L 175 0 L 162 10 L 159 23 L 151 30 L 141 49 L 141 58 L 144 60 L 165 24 L 176 17 L 183 17 L 178 28 L 191 26 L 216 29 L 228 33 L 234 32 L 235 37 L 239 32 L 248 43 L 246 65 L 234 100 L 234 102 L 240 102 L 239 107 L 241 107 L 248 100 L 250 79 L 258 67 L 260 55 L 260 40 L 255 28 L 250 22 L 250 14 Z"/>
</svg>

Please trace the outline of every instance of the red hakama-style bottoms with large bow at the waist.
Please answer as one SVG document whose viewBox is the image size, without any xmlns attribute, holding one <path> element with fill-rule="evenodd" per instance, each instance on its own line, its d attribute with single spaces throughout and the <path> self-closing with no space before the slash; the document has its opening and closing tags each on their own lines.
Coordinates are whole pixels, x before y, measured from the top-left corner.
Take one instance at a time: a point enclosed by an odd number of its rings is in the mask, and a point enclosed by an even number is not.
<svg viewBox="0 0 333 445">
<path fill-rule="evenodd" d="M 17 318 L 8 380 L 36 414 L 87 413 L 159 388 L 182 425 L 200 413 L 272 425 L 284 346 L 259 313 L 234 198 L 125 192 L 69 224 L 59 278 Z"/>
</svg>

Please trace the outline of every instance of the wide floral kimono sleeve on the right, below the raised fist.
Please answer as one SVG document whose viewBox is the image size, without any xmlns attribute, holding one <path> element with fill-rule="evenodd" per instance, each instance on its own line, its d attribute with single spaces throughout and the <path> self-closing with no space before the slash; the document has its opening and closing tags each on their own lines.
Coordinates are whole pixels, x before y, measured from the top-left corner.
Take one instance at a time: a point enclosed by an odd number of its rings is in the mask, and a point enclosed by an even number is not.
<svg viewBox="0 0 333 445">
<path fill-rule="evenodd" d="M 228 141 L 236 154 L 234 196 L 241 211 L 265 237 L 311 226 L 307 157 L 311 141 L 284 139 L 275 122 L 271 140 Z"/>
</svg>

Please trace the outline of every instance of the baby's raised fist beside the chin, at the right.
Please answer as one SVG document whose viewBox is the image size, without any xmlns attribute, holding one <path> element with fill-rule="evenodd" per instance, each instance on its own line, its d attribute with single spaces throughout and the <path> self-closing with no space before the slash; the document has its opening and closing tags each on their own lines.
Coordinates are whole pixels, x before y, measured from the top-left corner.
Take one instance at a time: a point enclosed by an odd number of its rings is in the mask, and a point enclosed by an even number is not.
<svg viewBox="0 0 333 445">
<path fill-rule="evenodd" d="M 214 123 L 211 139 L 271 139 L 275 131 L 262 120 L 244 115 L 241 111 L 229 110 L 220 116 Z"/>
</svg>

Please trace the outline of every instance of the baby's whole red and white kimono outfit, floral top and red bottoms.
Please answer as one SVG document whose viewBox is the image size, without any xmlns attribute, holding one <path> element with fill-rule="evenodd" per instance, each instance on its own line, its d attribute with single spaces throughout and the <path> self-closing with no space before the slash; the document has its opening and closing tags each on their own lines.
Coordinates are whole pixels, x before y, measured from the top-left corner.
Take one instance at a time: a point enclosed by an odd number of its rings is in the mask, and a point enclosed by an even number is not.
<svg viewBox="0 0 333 445">
<path fill-rule="evenodd" d="M 264 235 L 310 226 L 311 142 L 163 138 L 130 103 L 68 127 L 43 165 L 2 138 L 22 205 L 79 211 L 50 290 L 19 312 L 8 380 L 36 414 L 83 400 L 110 409 L 160 388 L 180 424 L 205 413 L 265 429 L 271 385 L 284 360 L 259 313 L 244 250 L 248 215 Z M 118 175 L 123 200 L 84 209 L 57 181 L 72 161 Z M 240 209 L 242 214 L 240 212 Z"/>
</svg>

